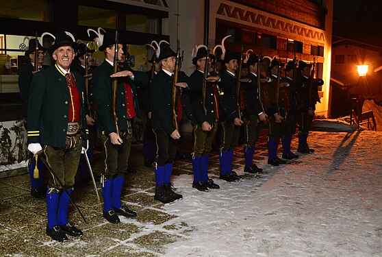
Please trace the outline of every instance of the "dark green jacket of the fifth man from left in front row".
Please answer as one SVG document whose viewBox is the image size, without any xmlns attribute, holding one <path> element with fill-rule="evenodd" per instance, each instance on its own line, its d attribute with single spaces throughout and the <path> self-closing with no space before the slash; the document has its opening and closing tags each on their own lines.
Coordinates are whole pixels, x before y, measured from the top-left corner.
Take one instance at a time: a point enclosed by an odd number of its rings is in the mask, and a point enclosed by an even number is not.
<svg viewBox="0 0 382 257">
<path fill-rule="evenodd" d="M 239 117 L 238 110 L 235 102 L 235 86 L 236 78 L 224 71 L 220 74 L 220 81 L 218 82 L 222 89 L 223 95 L 220 96 L 220 117 L 225 117 L 233 121 Z"/>
</svg>

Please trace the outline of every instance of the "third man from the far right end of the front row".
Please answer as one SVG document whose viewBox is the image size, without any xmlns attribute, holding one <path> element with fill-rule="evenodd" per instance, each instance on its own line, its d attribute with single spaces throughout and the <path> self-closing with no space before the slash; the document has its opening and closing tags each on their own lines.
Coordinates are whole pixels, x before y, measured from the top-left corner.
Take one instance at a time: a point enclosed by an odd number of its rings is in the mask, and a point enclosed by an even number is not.
<svg viewBox="0 0 382 257">
<path fill-rule="evenodd" d="M 285 86 L 287 83 L 278 81 L 281 79 L 279 77 L 279 69 L 284 66 L 283 63 L 279 62 L 275 58 L 270 62 L 268 72 L 270 73 L 270 82 L 265 83 L 263 90 L 264 101 L 267 105 L 268 114 L 268 164 L 272 166 L 279 166 L 280 164 L 286 164 L 285 160 L 277 157 L 277 148 L 279 147 L 279 142 L 283 136 L 283 131 L 285 127 L 285 121 L 283 119 L 280 107 L 280 88 Z M 279 87 L 277 89 L 277 87 Z"/>
</svg>

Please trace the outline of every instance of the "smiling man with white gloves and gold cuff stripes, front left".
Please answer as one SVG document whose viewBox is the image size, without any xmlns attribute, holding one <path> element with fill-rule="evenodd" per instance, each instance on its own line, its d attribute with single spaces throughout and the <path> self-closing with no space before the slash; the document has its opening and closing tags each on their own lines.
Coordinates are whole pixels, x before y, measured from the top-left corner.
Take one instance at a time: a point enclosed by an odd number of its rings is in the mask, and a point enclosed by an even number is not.
<svg viewBox="0 0 382 257">
<path fill-rule="evenodd" d="M 68 221 L 69 195 L 81 150 L 86 151 L 87 146 L 84 78 L 70 70 L 75 51 L 77 43 L 71 36 L 58 32 L 48 49 L 55 66 L 36 73 L 29 92 L 28 149 L 32 154 L 44 151 L 51 168 L 46 233 L 60 242 L 68 240 L 66 234 L 82 236 L 81 230 Z"/>
</svg>

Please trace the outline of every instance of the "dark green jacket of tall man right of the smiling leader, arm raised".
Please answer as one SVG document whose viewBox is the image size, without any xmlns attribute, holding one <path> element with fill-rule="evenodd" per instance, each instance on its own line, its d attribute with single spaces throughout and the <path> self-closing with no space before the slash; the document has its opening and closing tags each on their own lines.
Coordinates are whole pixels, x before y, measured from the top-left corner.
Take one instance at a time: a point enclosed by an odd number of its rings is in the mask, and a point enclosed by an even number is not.
<svg viewBox="0 0 382 257">
<path fill-rule="evenodd" d="M 140 108 L 138 106 L 138 96 L 135 83 L 147 84 L 149 77 L 141 71 L 133 71 L 125 64 L 120 71 L 129 70 L 134 75 L 134 80 L 129 77 L 118 78 L 116 111 L 118 112 L 118 126 L 120 130 L 127 130 L 127 114 L 126 114 L 126 99 L 125 86 L 123 82 L 129 82 L 133 90 L 133 103 L 136 110 L 136 115 L 140 117 Z M 114 119 L 112 114 L 112 75 L 113 66 L 109 62 L 104 61 L 92 75 L 92 88 L 94 99 L 97 103 L 97 127 L 103 130 L 106 134 L 115 132 Z"/>
</svg>

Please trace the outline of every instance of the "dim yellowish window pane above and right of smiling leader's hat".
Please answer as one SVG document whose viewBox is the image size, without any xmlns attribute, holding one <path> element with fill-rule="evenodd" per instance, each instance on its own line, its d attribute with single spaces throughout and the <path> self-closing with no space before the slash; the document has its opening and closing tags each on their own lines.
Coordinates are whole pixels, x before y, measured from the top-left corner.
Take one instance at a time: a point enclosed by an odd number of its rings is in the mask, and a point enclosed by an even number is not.
<svg viewBox="0 0 382 257">
<path fill-rule="evenodd" d="M 78 5 L 78 25 L 116 29 L 116 11 Z"/>
</svg>

